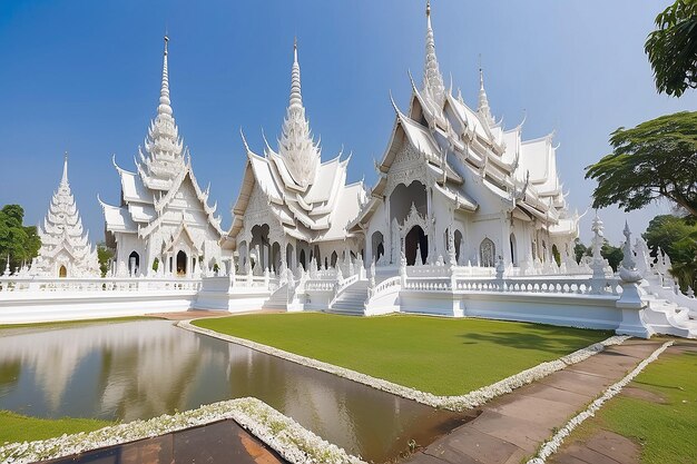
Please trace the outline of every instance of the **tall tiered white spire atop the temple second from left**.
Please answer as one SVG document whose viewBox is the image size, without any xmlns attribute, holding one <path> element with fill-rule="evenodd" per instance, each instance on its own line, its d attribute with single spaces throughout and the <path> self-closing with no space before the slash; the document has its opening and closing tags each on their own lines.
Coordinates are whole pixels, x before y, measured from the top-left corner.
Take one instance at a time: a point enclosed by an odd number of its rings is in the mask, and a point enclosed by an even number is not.
<svg viewBox="0 0 697 464">
<path fill-rule="evenodd" d="M 163 57 L 163 83 L 159 91 L 157 116 L 150 122 L 145 140 L 145 151 L 140 152 L 140 161 L 145 165 L 139 169 L 144 182 L 149 188 L 166 190 L 171 179 L 185 168 L 183 155 L 184 142 L 179 138 L 179 129 L 175 122 L 171 100 L 169 99 L 169 37 L 165 36 Z"/>
</svg>

